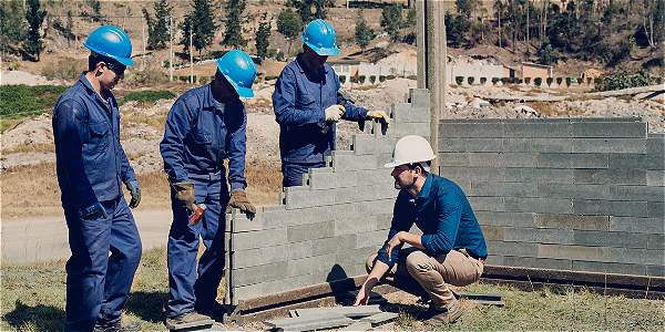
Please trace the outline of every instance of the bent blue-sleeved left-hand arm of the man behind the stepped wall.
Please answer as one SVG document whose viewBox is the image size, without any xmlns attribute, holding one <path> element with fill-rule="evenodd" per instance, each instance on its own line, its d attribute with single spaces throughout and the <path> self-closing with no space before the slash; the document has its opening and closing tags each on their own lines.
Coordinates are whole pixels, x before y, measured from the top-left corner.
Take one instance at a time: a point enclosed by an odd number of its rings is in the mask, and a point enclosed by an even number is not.
<svg viewBox="0 0 665 332">
<path fill-rule="evenodd" d="M 318 112 L 298 110 L 296 108 L 296 97 L 295 74 L 289 69 L 285 69 L 275 84 L 275 92 L 273 92 L 273 108 L 278 124 L 301 126 L 324 123 L 326 118 L 324 110 L 318 110 Z"/>
</svg>

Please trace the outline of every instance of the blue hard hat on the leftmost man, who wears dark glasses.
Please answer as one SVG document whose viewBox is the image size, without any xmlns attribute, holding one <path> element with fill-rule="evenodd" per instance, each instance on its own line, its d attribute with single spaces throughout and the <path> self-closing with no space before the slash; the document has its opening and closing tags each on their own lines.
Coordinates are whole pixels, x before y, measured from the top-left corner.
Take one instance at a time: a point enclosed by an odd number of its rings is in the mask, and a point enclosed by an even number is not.
<svg viewBox="0 0 665 332">
<path fill-rule="evenodd" d="M 134 65 L 130 35 L 115 25 L 94 29 L 83 45 L 94 53 L 109 56 L 124 65 Z"/>
</svg>

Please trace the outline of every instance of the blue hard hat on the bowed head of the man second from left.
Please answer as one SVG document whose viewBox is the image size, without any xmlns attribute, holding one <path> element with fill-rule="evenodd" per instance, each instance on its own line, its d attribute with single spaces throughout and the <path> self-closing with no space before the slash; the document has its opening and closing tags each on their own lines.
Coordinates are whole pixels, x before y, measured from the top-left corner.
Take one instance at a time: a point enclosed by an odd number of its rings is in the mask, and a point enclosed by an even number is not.
<svg viewBox="0 0 665 332">
<path fill-rule="evenodd" d="M 256 65 L 249 54 L 231 50 L 216 60 L 217 70 L 233 85 L 239 96 L 250 98 L 254 96 L 252 84 L 256 79 Z"/>
</svg>

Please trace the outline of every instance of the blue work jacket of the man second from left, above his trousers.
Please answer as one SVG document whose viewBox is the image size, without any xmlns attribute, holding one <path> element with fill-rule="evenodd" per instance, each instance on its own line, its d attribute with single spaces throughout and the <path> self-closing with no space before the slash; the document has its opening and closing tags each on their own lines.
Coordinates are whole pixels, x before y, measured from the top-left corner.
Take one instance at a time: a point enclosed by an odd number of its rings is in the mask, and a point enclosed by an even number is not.
<svg viewBox="0 0 665 332">
<path fill-rule="evenodd" d="M 160 152 L 172 183 L 191 176 L 222 173 L 228 158 L 231 189 L 245 189 L 247 115 L 243 102 L 219 104 L 212 85 L 192 89 L 180 96 L 166 117 Z"/>
</svg>

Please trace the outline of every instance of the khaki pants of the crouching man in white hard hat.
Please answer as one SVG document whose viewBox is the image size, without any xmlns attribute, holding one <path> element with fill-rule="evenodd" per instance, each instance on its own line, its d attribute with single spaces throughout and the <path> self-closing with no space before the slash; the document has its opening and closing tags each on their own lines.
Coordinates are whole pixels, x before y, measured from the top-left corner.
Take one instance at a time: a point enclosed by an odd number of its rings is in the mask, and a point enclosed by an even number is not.
<svg viewBox="0 0 665 332">
<path fill-rule="evenodd" d="M 457 303 L 449 284 L 471 284 L 482 274 L 483 263 L 470 257 L 464 249 L 451 250 L 448 255 L 437 257 L 416 248 L 405 249 L 400 253 L 400 261 L 386 273 L 385 280 L 416 295 L 428 294 L 438 310 Z M 377 253 L 367 259 L 368 272 L 376 259 Z"/>
</svg>

